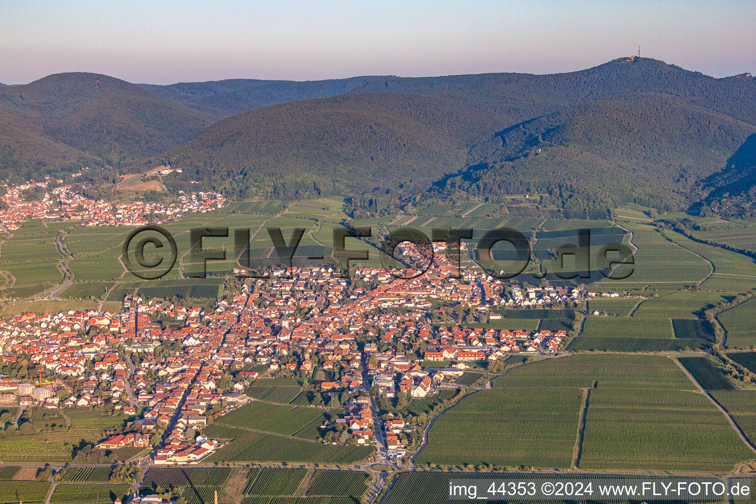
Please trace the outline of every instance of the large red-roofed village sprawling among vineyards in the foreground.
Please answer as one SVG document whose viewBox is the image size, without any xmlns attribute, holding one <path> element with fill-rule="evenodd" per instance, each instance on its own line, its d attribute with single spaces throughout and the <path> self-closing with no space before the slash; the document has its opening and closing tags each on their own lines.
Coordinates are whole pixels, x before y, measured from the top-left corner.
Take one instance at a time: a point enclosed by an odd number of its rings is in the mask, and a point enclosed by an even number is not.
<svg viewBox="0 0 756 504">
<path fill-rule="evenodd" d="M 401 457 L 415 428 L 391 414 L 378 419 L 373 401 L 433 397 L 459 388 L 465 369 L 560 351 L 565 330 L 464 322 L 495 323 L 499 307 L 561 307 L 583 295 L 525 289 L 476 271 L 456 279 L 439 254 L 412 280 L 379 268 L 357 268 L 346 279 L 325 266 L 232 278 L 212 309 L 127 295 L 119 313 L 28 313 L 0 320 L 3 369 L 35 369 L 26 379 L 0 377 L 0 405 L 110 405 L 132 420 L 96 449 L 148 447 L 153 464 L 187 464 L 222 447 L 202 430 L 253 400 L 245 394 L 250 383 L 294 376 L 315 393 L 311 407 L 344 408 L 321 426 L 323 442 L 375 444 L 377 429 L 385 456 Z"/>
</svg>

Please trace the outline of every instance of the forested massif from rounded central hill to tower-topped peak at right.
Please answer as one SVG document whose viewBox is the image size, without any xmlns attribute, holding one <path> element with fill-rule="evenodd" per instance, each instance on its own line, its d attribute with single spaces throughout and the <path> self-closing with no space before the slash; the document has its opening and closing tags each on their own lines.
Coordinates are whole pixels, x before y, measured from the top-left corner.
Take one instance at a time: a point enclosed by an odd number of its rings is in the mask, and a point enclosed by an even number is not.
<svg viewBox="0 0 756 504">
<path fill-rule="evenodd" d="M 681 208 L 754 123 L 754 79 L 621 58 L 545 76 L 374 79 L 342 97 L 225 119 L 154 162 L 185 169 L 176 187 L 197 180 L 243 195 L 407 201 L 464 190 L 496 201 L 530 186 L 576 208 Z M 522 131 L 502 133 L 513 127 Z M 527 159 L 544 146 L 549 155 Z"/>
</svg>

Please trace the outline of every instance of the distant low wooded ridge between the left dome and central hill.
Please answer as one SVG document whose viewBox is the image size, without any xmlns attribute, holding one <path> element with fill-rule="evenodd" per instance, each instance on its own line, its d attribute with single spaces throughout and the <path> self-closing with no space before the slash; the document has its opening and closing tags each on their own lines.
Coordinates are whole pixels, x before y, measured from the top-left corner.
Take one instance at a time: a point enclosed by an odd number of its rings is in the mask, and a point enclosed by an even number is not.
<svg viewBox="0 0 756 504">
<path fill-rule="evenodd" d="M 344 94 L 373 79 L 390 76 L 362 76 L 322 81 L 277 81 L 228 79 L 209 82 L 178 82 L 171 85 L 139 84 L 160 97 L 186 105 L 215 119 L 225 119 L 248 110 Z"/>
</svg>

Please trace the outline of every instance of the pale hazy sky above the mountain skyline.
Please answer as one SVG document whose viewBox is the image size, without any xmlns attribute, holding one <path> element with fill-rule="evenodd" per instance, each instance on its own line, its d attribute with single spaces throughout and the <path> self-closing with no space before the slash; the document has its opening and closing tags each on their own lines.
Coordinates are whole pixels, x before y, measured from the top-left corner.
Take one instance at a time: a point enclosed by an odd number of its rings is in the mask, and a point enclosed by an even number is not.
<svg viewBox="0 0 756 504">
<path fill-rule="evenodd" d="M 756 73 L 756 2 L 0 0 L 0 82 L 553 73 L 637 52 Z"/>
</svg>

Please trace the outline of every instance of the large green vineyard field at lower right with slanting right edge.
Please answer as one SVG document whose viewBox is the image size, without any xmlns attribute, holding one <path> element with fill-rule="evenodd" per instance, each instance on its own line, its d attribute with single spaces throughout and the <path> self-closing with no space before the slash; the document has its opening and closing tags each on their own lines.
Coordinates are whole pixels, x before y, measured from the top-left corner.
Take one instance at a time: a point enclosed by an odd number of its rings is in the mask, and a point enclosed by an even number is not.
<svg viewBox="0 0 756 504">
<path fill-rule="evenodd" d="M 703 394 L 590 392 L 580 468 L 726 472 L 752 458 L 753 452 Z"/>
</svg>

